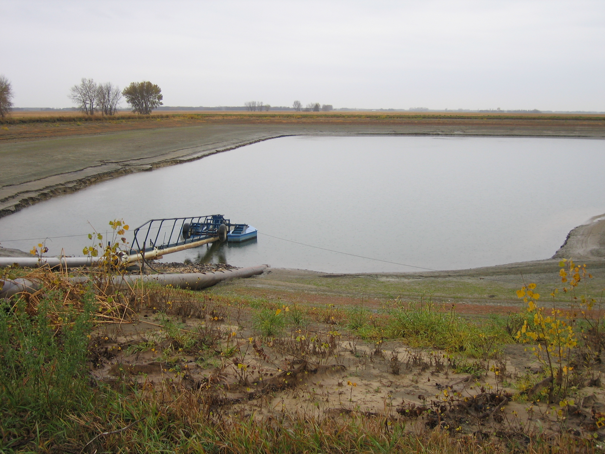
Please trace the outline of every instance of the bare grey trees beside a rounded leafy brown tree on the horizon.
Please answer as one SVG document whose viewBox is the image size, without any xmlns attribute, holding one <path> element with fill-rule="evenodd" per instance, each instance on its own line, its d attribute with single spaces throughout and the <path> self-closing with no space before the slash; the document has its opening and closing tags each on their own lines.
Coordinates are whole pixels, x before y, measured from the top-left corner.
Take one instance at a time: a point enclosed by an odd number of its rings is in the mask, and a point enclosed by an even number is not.
<svg viewBox="0 0 605 454">
<path fill-rule="evenodd" d="M 70 88 L 68 97 L 87 115 L 100 112 L 103 115 L 115 115 L 122 96 L 131 105 L 134 113 L 148 115 L 162 105 L 162 90 L 149 81 L 131 82 L 120 91 L 120 87 L 106 82 L 97 84 L 93 79 L 82 77 L 80 84 Z"/>
</svg>

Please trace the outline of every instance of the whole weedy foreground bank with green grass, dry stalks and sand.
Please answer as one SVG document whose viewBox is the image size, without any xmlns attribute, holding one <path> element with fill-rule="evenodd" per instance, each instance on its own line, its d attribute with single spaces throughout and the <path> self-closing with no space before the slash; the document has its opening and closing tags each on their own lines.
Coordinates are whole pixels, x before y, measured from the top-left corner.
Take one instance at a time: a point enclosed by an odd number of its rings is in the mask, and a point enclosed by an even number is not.
<svg viewBox="0 0 605 454">
<path fill-rule="evenodd" d="M 603 312 L 561 269 L 569 311 L 528 284 L 528 309 L 479 321 L 5 269 L 44 286 L 1 303 L 0 450 L 594 452 Z"/>
</svg>

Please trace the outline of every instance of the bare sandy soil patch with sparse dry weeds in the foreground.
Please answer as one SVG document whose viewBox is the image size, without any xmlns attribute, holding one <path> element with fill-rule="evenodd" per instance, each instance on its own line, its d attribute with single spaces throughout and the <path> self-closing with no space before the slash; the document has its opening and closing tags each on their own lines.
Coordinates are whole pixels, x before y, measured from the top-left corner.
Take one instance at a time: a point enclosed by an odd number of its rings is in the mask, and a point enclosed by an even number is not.
<svg viewBox="0 0 605 454">
<path fill-rule="evenodd" d="M 167 323 L 165 316 L 143 309 L 134 323 L 96 329 L 94 380 L 206 390 L 200 410 L 224 416 L 387 416 L 405 421 L 406 430 L 440 426 L 453 435 L 567 431 L 605 438 L 596 424 L 605 411 L 605 393 L 594 379 L 602 364 L 578 381 L 570 396 L 574 404 L 561 410 L 565 418 L 557 418 L 552 407 L 561 407 L 546 403 L 538 385 L 531 398 L 515 395 L 518 380 L 541 380 L 540 364 L 523 344 L 473 359 L 414 349 L 399 340 L 363 341 L 341 326 L 319 322 L 263 338 L 247 309 L 210 304 L 205 312 L 190 314 L 186 308 L 170 308 L 180 314 L 174 318 L 181 332 L 203 333 L 210 348 L 181 352 L 174 335 L 166 337 L 159 327 Z"/>
</svg>

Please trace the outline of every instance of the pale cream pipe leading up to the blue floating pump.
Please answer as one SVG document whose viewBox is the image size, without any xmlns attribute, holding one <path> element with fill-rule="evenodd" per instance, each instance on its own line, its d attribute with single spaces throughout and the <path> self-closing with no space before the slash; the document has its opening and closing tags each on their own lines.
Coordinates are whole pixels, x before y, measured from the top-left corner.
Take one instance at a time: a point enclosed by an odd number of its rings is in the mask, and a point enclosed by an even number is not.
<svg viewBox="0 0 605 454">
<path fill-rule="evenodd" d="M 171 246 L 170 248 L 158 249 L 153 248 L 151 251 L 145 251 L 145 260 L 154 260 L 162 257 L 164 254 L 172 254 L 172 252 L 185 251 L 185 249 L 197 248 L 197 246 L 206 245 L 218 240 L 218 237 L 206 238 L 200 241 L 185 243 L 183 245 Z M 142 260 L 143 254 L 130 254 L 126 256 L 126 263 L 139 262 Z M 39 266 L 50 266 L 55 268 L 62 266 L 63 268 L 77 268 L 79 266 L 91 266 L 94 263 L 103 260 L 103 257 L 0 257 L 0 266 L 11 266 L 17 264 L 19 266 L 27 266 L 27 268 L 38 268 Z"/>
</svg>

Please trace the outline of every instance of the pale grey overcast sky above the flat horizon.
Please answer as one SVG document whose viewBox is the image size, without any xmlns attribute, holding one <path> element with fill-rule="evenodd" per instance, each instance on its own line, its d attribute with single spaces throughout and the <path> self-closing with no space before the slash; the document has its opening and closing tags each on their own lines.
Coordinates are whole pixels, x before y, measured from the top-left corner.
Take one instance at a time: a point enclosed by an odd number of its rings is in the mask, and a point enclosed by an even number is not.
<svg viewBox="0 0 605 454">
<path fill-rule="evenodd" d="M 605 111 L 603 0 L 0 0 L 0 19 L 16 107 L 70 107 L 92 77 L 171 106 Z"/>
</svg>

